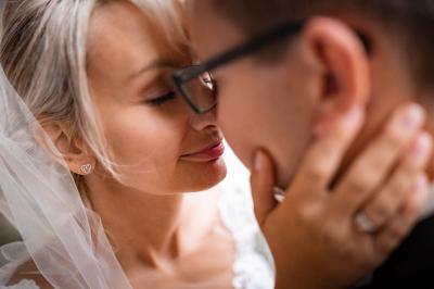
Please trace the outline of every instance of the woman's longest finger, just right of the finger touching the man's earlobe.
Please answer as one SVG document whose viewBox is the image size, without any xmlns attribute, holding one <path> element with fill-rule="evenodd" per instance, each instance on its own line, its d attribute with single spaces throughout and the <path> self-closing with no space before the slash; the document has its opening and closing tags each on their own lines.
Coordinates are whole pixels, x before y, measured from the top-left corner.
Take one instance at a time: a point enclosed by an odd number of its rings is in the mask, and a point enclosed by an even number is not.
<svg viewBox="0 0 434 289">
<path fill-rule="evenodd" d="M 332 193 L 341 216 L 354 215 L 390 174 L 424 122 L 418 104 L 406 105 L 393 116 L 380 137 L 359 155 Z"/>
</svg>

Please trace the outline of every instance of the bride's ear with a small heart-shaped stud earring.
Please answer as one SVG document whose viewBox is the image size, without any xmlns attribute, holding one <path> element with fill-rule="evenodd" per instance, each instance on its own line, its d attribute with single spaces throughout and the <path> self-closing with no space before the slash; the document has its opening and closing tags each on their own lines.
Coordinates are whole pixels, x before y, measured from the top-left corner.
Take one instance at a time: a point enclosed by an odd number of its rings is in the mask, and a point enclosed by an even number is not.
<svg viewBox="0 0 434 289">
<path fill-rule="evenodd" d="M 53 122 L 44 124 L 42 128 L 61 155 L 55 155 L 53 150 L 49 149 L 49 151 L 56 158 L 62 158 L 71 172 L 88 175 L 94 168 L 95 158 L 80 138 L 71 135 L 66 125 Z"/>
</svg>

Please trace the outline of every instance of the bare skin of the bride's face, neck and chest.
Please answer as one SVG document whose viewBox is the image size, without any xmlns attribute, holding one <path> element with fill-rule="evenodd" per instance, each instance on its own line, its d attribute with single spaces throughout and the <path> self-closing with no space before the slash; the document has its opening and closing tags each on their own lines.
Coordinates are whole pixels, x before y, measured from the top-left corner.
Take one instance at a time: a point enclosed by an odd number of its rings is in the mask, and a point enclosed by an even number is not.
<svg viewBox="0 0 434 289">
<path fill-rule="evenodd" d="M 122 181 L 79 141 L 66 149 L 61 126 L 48 131 L 73 172 L 93 165 L 85 177 L 90 199 L 131 285 L 230 288 L 234 241 L 219 219 L 219 192 L 206 191 L 225 178 L 226 166 L 221 158 L 191 156 L 221 141 L 215 112 L 196 115 L 180 98 L 150 102 L 174 90 L 166 77 L 191 63 L 190 54 L 174 51 L 122 1 L 97 10 L 89 39 L 90 88 Z M 164 65 L 149 67 L 155 61 Z M 197 191 L 205 192 L 186 193 Z"/>
</svg>

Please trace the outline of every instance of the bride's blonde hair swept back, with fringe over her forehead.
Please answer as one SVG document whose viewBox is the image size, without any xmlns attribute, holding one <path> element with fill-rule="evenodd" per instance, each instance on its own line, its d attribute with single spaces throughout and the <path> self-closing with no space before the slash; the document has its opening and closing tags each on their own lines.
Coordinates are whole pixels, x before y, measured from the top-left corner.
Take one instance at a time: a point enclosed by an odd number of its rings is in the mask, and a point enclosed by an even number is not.
<svg viewBox="0 0 434 289">
<path fill-rule="evenodd" d="M 113 1 L 7 1 L 0 62 L 11 84 L 42 125 L 66 124 L 69 141 L 81 139 L 99 163 L 119 178 L 87 80 L 90 17 L 95 9 Z M 179 0 L 128 2 L 143 11 L 174 49 L 186 49 L 188 37 Z M 77 185 L 82 185 L 78 175 L 75 179 Z"/>
</svg>

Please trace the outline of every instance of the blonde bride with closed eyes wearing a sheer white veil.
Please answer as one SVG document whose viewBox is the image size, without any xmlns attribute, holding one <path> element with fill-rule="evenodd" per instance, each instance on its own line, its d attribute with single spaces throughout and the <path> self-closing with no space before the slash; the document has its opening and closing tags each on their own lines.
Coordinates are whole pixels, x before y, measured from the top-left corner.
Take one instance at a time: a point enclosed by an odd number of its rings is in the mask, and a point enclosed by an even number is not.
<svg viewBox="0 0 434 289">
<path fill-rule="evenodd" d="M 273 287 L 244 183 L 215 187 L 215 112 L 173 92 L 193 62 L 180 9 L 7 1 L 0 212 L 23 241 L 0 249 L 1 288 Z"/>
</svg>

